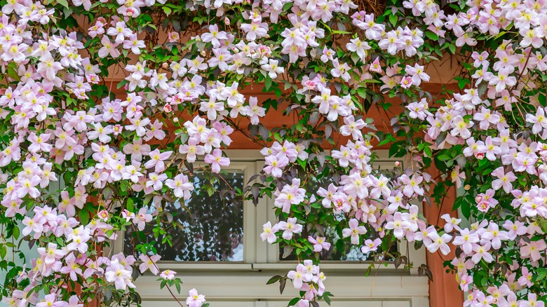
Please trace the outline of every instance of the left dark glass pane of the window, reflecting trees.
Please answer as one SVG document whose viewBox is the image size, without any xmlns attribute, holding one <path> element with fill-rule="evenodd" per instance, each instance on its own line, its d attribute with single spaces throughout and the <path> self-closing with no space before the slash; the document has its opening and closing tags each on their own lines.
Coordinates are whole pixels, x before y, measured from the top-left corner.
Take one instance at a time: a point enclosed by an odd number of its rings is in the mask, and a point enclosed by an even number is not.
<svg viewBox="0 0 547 307">
<path fill-rule="evenodd" d="M 243 170 L 227 170 L 220 176 L 226 182 L 196 173 L 189 177 L 196 187 L 191 198 L 184 203 L 166 203 L 161 208 L 173 214 L 173 221 L 163 223 L 173 247 L 164 241 L 165 235 L 154 238 L 154 220 L 144 228 L 144 238 L 134 238 L 133 229 L 126 231 L 124 252 L 133 254 L 136 245 L 149 243 L 163 261 L 243 261 L 243 201 L 222 193 L 236 187 L 243 190 Z M 155 211 L 156 206 L 151 205 L 149 213 Z"/>
</svg>

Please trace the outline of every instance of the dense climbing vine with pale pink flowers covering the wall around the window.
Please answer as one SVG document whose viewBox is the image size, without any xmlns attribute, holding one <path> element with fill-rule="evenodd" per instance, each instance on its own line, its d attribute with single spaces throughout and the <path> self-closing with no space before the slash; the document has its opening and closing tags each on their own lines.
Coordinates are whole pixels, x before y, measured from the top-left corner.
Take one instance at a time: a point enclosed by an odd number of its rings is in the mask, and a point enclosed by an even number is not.
<svg viewBox="0 0 547 307">
<path fill-rule="evenodd" d="M 275 198 L 279 221 L 261 236 L 299 261 L 271 280 L 300 290 L 290 306 L 330 300 L 320 253 L 344 244 L 427 274 L 393 250 L 403 239 L 455 251 L 446 265 L 466 306 L 547 301 L 546 1 L 0 5 L 0 291 L 12 306 L 139 303 L 133 280 L 148 270 L 180 289 L 155 243 L 102 248 L 128 228 L 172 244 L 166 205 L 203 193 Z M 448 57 L 458 88 L 432 95 L 431 63 Z M 246 97 L 250 86 L 272 98 Z M 377 131 L 371 109 L 391 124 Z M 270 114 L 290 124 L 266 128 Z M 263 147 L 266 166 L 245 189 L 217 189 L 233 134 Z M 378 145 L 406 160 L 373 168 Z M 417 203 L 457 188 L 471 226 L 429 226 Z M 186 304 L 208 305 L 195 289 Z"/>
</svg>

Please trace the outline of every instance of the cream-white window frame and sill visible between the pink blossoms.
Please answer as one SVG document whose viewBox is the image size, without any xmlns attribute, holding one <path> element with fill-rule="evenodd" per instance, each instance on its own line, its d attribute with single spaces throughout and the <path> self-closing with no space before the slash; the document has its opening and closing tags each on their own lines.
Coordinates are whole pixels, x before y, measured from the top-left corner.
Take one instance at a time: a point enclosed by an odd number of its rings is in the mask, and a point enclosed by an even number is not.
<svg viewBox="0 0 547 307">
<path fill-rule="evenodd" d="M 388 151 L 375 151 L 379 159 L 375 165 L 392 168 L 395 161 Z M 244 184 L 262 170 L 264 157 L 257 150 L 226 150 L 230 169 L 243 170 Z M 422 210 L 421 204 L 417 204 Z M 272 275 L 285 275 L 295 268 L 297 261 L 279 259 L 279 245 L 262 242 L 259 233 L 267 221 L 276 221 L 274 200 L 260 198 L 257 206 L 251 200 L 243 203 L 243 248 L 241 262 L 231 261 L 159 261 L 158 268 L 177 271 L 183 279 L 185 292 L 195 287 L 207 296 L 214 306 L 222 307 L 281 307 L 288 299 L 298 296 L 290 282 L 280 295 L 278 285 L 266 285 Z M 411 243 L 412 244 L 412 243 Z M 123 251 L 123 233 L 112 244 L 112 252 Z M 377 265 L 370 276 L 364 273 L 370 261 L 323 261 L 321 270 L 327 275 L 327 291 L 335 294 L 333 307 L 422 307 L 428 306 L 428 280 L 417 276 L 417 267 L 426 263 L 424 247 L 414 250 L 403 240 L 398 251 L 414 263 L 414 268 L 396 269 L 394 264 Z M 108 252 L 108 251 L 105 251 Z M 145 273 L 135 281 L 144 306 L 177 306 L 166 289 L 160 290 L 158 276 Z M 188 289 L 187 289 L 188 288 Z M 323 304 L 323 303 L 322 303 Z M 338 305 L 336 305 L 338 304 Z M 321 305 L 323 306 L 323 305 Z"/>
</svg>

